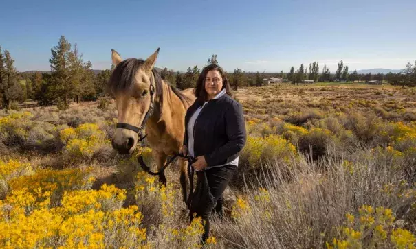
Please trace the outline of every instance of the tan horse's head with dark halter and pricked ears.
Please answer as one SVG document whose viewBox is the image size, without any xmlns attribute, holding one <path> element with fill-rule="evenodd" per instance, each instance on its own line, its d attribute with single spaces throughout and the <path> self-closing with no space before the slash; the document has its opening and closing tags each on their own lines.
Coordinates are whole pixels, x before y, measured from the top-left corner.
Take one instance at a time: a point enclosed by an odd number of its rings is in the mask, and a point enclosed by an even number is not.
<svg viewBox="0 0 416 249">
<path fill-rule="evenodd" d="M 118 112 L 118 124 L 111 144 L 120 154 L 131 154 L 140 139 L 145 117 L 153 110 L 155 80 L 152 69 L 159 49 L 146 60 L 122 60 L 120 54 L 111 51 L 116 68 L 108 86 L 116 99 Z"/>
</svg>

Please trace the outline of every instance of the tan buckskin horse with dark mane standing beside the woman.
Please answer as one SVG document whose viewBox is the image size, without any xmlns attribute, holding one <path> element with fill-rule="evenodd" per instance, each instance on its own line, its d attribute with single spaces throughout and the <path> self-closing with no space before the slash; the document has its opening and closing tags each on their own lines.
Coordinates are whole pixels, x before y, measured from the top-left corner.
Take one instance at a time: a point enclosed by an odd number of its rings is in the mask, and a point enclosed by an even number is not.
<svg viewBox="0 0 416 249">
<path fill-rule="evenodd" d="M 159 181 L 166 185 L 163 170 L 166 158 L 178 154 L 184 142 L 185 115 L 195 102 L 193 88 L 179 91 L 164 80 L 155 69 L 160 48 L 146 60 L 128 58 L 122 60 L 111 49 L 115 66 L 107 89 L 116 99 L 118 123 L 111 145 L 119 154 L 132 154 L 135 147 L 146 139 L 152 149 L 159 174 Z M 186 161 L 179 160 L 182 195 L 186 202 Z"/>
</svg>

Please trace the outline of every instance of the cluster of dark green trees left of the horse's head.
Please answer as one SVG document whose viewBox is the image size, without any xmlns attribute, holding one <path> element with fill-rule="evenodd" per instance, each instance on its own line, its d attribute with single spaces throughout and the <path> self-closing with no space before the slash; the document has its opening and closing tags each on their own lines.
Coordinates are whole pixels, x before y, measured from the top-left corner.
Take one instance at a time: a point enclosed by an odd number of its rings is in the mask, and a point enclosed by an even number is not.
<svg viewBox="0 0 416 249">
<path fill-rule="evenodd" d="M 71 101 L 93 100 L 105 95 L 111 69 L 94 73 L 90 61 L 83 60 L 78 45 L 71 45 L 65 36 L 51 49 L 50 71 L 19 73 L 9 51 L 0 47 L 1 107 L 32 99 L 41 106 L 58 104 L 61 108 Z"/>
</svg>

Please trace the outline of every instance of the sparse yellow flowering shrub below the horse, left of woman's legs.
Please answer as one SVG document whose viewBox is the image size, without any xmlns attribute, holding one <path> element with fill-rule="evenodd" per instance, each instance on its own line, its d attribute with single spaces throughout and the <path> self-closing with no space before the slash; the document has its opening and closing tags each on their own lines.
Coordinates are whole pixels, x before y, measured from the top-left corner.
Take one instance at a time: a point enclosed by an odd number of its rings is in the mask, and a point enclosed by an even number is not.
<svg viewBox="0 0 416 249">
<path fill-rule="evenodd" d="M 157 178 L 145 172 L 139 172 L 135 182 L 135 197 L 144 222 L 149 227 L 151 248 L 201 248 L 199 241 L 204 233 L 204 222 L 195 217 L 185 224 L 178 210 L 182 196 L 172 184 L 166 186 L 157 182 Z M 217 244 L 215 237 L 207 241 L 208 248 Z"/>
</svg>

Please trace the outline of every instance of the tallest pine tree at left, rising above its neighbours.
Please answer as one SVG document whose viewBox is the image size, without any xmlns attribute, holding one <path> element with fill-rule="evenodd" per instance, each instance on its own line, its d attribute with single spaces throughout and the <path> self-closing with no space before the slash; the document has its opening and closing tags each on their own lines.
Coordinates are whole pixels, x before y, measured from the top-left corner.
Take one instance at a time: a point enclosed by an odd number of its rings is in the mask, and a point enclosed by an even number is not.
<svg viewBox="0 0 416 249">
<path fill-rule="evenodd" d="M 61 101 L 69 104 L 69 96 L 72 94 L 72 84 L 69 80 L 69 57 L 71 55 L 71 43 L 65 36 L 61 36 L 58 45 L 51 49 L 51 83 L 53 94 L 60 97 Z"/>
</svg>

